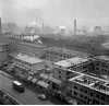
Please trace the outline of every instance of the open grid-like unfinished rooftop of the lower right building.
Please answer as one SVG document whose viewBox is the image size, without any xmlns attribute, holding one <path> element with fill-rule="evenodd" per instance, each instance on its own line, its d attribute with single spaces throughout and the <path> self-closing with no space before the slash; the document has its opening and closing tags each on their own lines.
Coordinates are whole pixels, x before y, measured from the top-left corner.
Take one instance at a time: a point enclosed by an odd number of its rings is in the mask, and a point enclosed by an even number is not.
<svg viewBox="0 0 109 106">
<path fill-rule="evenodd" d="M 82 84 L 86 87 L 109 95 L 109 82 L 107 80 L 102 80 L 87 74 L 82 74 L 77 78 L 70 79 L 69 81 Z"/>
</svg>

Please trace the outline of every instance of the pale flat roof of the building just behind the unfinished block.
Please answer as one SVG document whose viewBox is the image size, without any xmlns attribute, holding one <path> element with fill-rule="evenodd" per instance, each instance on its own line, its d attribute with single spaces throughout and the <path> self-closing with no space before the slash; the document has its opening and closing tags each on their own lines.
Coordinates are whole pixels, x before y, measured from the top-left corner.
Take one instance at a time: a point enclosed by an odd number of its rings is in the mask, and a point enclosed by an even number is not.
<svg viewBox="0 0 109 106">
<path fill-rule="evenodd" d="M 88 58 L 74 57 L 71 59 L 55 62 L 55 64 L 60 66 L 60 67 L 64 67 L 64 68 L 69 68 L 71 66 L 80 64 L 80 63 L 83 63 L 86 61 L 88 61 Z"/>
</svg>

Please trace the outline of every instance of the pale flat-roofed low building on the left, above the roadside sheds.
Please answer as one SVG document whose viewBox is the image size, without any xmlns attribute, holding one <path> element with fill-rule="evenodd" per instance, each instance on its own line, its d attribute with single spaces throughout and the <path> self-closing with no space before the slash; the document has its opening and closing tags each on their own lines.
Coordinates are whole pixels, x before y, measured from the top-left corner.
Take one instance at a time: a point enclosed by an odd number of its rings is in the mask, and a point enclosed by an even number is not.
<svg viewBox="0 0 109 106">
<path fill-rule="evenodd" d="M 17 55 L 13 59 L 15 70 L 20 75 L 28 75 L 29 73 L 38 73 L 45 69 L 45 61 L 28 55 Z"/>
</svg>

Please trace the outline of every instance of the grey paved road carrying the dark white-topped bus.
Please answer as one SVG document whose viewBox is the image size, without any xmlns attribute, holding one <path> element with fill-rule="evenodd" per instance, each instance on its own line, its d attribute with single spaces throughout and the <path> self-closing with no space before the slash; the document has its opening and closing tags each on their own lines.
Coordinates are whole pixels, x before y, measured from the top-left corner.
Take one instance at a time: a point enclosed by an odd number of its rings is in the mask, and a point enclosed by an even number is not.
<svg viewBox="0 0 109 106">
<path fill-rule="evenodd" d="M 53 105 L 49 101 L 41 101 L 35 93 L 25 89 L 24 93 L 19 93 L 12 87 L 12 78 L 8 74 L 2 74 L 0 71 L 0 89 L 4 90 L 24 105 Z"/>
</svg>

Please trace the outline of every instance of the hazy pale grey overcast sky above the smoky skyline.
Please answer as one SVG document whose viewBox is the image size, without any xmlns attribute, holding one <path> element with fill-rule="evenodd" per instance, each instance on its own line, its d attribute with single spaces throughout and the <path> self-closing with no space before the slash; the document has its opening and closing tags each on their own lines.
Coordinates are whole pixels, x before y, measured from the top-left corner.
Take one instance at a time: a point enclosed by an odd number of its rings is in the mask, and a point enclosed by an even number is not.
<svg viewBox="0 0 109 106">
<path fill-rule="evenodd" d="M 0 16 L 19 25 L 109 25 L 109 0 L 0 0 Z"/>
</svg>

